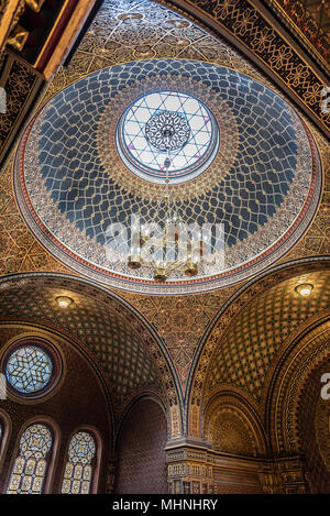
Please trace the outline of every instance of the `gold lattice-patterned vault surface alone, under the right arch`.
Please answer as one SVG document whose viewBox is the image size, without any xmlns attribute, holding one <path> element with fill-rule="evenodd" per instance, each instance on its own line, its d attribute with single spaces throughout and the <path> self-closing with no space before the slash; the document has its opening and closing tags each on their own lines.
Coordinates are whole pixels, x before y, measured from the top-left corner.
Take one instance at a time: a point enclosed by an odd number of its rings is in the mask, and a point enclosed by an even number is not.
<svg viewBox="0 0 330 516">
<path fill-rule="evenodd" d="M 314 285 L 312 296 L 295 294 L 298 277 L 293 277 L 265 290 L 233 319 L 219 342 L 221 353 L 216 353 L 210 364 L 208 395 L 221 384 L 232 384 L 261 403 L 270 366 L 285 339 L 318 311 L 329 308 L 329 272 L 304 277 Z"/>
</svg>

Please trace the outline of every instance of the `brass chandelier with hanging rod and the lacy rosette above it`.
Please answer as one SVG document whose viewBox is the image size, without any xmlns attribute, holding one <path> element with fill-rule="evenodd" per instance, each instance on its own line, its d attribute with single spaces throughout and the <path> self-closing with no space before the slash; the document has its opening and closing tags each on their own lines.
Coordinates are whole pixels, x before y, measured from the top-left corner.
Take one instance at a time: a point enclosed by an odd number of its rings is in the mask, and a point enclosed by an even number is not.
<svg viewBox="0 0 330 516">
<path fill-rule="evenodd" d="M 162 233 L 152 234 L 153 223 L 144 221 L 131 228 L 131 252 L 128 265 L 132 270 L 152 268 L 154 281 L 164 283 L 169 273 L 178 272 L 188 277 L 196 276 L 202 257 L 201 233 L 190 234 L 188 227 L 177 213 L 170 199 L 168 171 L 169 152 L 182 147 L 189 138 L 189 130 L 183 117 L 176 113 L 162 113 L 146 124 L 145 135 L 161 152 L 166 152 L 164 162 L 165 193 L 158 202 L 165 204 L 165 223 Z M 168 259 L 169 257 L 169 259 Z"/>
</svg>

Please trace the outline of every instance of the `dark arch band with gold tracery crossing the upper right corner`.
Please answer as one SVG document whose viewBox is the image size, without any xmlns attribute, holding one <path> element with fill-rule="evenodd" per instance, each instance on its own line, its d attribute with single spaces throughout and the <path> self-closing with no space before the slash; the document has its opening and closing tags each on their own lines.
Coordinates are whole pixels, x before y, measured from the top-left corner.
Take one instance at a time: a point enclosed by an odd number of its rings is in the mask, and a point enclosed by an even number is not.
<svg viewBox="0 0 330 516">
<path fill-rule="evenodd" d="M 322 113 L 321 91 L 329 86 L 329 63 L 315 55 L 311 44 L 304 51 L 285 26 L 257 0 L 154 0 L 226 37 L 235 48 L 261 67 L 329 138 L 330 116 Z M 297 28 L 292 23 L 295 34 Z M 320 59 L 321 57 L 321 59 Z M 319 66 L 316 66 L 318 61 Z"/>
</svg>

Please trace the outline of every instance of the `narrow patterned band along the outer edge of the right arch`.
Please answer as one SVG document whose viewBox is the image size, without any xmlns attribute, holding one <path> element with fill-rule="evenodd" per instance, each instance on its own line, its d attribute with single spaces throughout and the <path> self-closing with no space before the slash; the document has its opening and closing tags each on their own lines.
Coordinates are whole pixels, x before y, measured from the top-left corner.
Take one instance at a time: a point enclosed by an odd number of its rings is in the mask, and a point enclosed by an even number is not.
<svg viewBox="0 0 330 516">
<path fill-rule="evenodd" d="M 201 435 L 205 378 L 207 378 L 210 364 L 219 350 L 221 339 L 238 312 L 248 307 L 262 293 L 285 279 L 324 270 L 330 270 L 329 256 L 311 256 L 284 263 L 254 277 L 228 299 L 207 328 L 190 369 L 186 394 L 189 407 L 187 410 L 187 428 L 190 437 L 198 438 Z"/>
</svg>

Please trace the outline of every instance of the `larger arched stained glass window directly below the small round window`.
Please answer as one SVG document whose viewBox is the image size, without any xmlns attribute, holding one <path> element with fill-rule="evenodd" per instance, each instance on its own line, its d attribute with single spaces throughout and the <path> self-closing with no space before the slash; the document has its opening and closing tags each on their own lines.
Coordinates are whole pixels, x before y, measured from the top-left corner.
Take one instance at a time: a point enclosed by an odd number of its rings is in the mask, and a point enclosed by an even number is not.
<svg viewBox="0 0 330 516">
<path fill-rule="evenodd" d="M 21 437 L 8 494 L 40 494 L 52 449 L 52 435 L 44 425 L 31 425 Z"/>
</svg>

